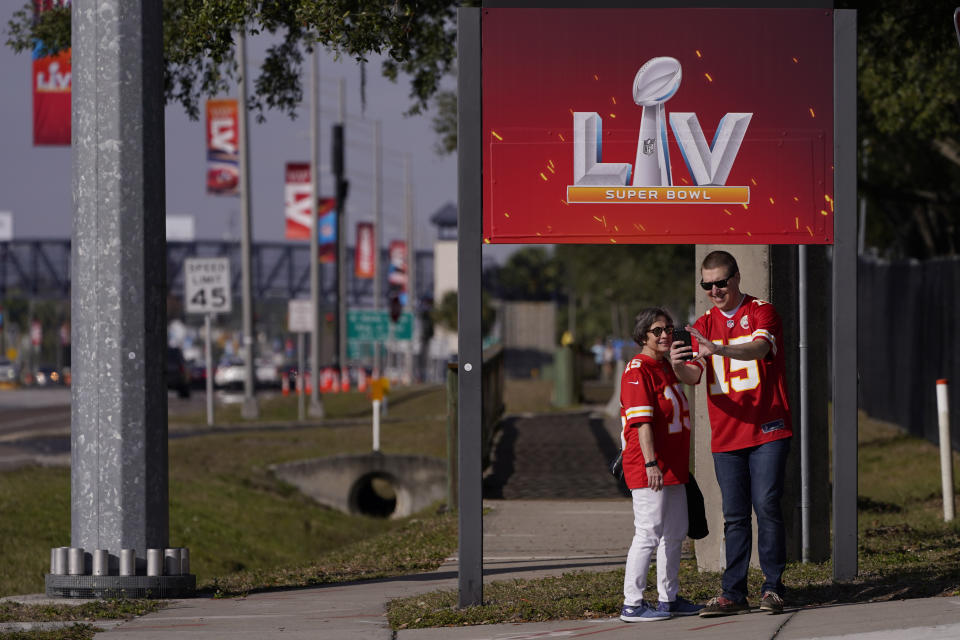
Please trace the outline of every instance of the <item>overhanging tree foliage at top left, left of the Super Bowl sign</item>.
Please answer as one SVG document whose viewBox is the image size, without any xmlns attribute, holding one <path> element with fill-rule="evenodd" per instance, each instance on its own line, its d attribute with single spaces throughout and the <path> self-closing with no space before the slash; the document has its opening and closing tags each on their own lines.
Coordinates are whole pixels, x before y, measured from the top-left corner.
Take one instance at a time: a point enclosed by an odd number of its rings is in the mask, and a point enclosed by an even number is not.
<svg viewBox="0 0 960 640">
<path fill-rule="evenodd" d="M 456 5 L 442 0 L 163 0 L 163 42 L 168 102 L 193 118 L 202 100 L 228 92 L 237 78 L 236 34 L 270 33 L 270 46 L 253 80 L 248 106 L 293 116 L 303 99 L 304 52 L 324 47 L 366 61 L 383 55 L 383 74 L 410 76 L 410 113 L 424 109 L 456 58 Z M 70 46 L 70 9 L 36 17 L 28 3 L 8 23 L 7 45 L 47 53 Z"/>
</svg>

